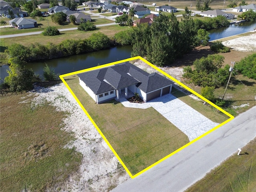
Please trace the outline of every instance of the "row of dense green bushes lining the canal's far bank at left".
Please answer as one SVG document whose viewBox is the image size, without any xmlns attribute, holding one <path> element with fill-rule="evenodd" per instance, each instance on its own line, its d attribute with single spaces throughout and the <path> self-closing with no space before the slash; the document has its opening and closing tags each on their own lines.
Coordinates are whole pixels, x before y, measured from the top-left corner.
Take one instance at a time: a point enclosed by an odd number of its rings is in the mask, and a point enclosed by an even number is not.
<svg viewBox="0 0 256 192">
<path fill-rule="evenodd" d="M 14 43 L 8 46 L 6 52 L 10 58 L 18 58 L 24 62 L 31 62 L 102 50 L 110 48 L 111 44 L 112 41 L 108 36 L 98 32 L 92 34 L 87 39 L 67 39 L 60 44 L 53 44 L 52 42 L 48 42 L 46 45 L 34 43 L 26 47 L 20 43 Z"/>
</svg>

